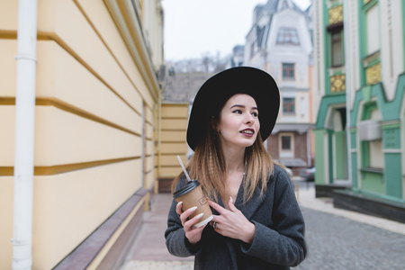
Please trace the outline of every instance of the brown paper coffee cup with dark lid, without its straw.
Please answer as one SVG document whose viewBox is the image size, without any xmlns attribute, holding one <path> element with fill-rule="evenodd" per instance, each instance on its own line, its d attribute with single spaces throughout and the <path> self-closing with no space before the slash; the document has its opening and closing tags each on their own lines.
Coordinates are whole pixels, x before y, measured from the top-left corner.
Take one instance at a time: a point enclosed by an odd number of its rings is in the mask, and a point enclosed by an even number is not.
<svg viewBox="0 0 405 270">
<path fill-rule="evenodd" d="M 173 198 L 175 199 L 175 202 L 183 202 L 183 211 L 197 206 L 197 209 L 189 216 L 189 220 L 193 219 L 196 215 L 203 213 L 198 223 L 195 223 L 193 226 L 198 228 L 212 220 L 213 217 L 210 205 L 208 205 L 207 200 L 202 193 L 201 185 L 197 180 L 188 182 L 183 188 L 173 193 Z"/>
</svg>

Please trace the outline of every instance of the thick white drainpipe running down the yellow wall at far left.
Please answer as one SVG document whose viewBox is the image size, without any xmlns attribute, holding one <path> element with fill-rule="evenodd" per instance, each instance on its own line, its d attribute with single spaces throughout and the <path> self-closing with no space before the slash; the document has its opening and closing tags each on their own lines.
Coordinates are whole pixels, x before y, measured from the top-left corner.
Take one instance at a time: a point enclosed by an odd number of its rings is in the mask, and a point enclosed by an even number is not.
<svg viewBox="0 0 405 270">
<path fill-rule="evenodd" d="M 19 0 L 17 40 L 13 270 L 31 270 L 37 0 Z"/>
</svg>

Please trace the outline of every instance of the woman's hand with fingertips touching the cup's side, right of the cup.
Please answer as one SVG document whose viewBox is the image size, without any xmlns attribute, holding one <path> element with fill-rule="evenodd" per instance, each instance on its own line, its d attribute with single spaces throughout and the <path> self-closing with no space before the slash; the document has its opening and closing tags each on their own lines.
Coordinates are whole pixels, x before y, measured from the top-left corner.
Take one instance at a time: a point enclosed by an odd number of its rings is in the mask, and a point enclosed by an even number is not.
<svg viewBox="0 0 405 270">
<path fill-rule="evenodd" d="M 247 220 L 243 213 L 235 207 L 231 199 L 228 202 L 229 210 L 211 200 L 207 200 L 207 202 L 220 213 L 219 216 L 214 215 L 211 220 L 211 224 L 217 222 L 214 228 L 216 232 L 225 237 L 240 239 L 247 244 L 253 242 L 256 232 L 255 224 Z"/>
</svg>

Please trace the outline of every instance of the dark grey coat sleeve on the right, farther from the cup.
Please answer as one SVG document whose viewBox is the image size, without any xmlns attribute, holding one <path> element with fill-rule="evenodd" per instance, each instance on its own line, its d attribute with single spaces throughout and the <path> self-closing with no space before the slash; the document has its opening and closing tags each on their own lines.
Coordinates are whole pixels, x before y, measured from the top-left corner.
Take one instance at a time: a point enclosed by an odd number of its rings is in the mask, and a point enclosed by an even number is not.
<svg viewBox="0 0 405 270">
<path fill-rule="evenodd" d="M 274 207 L 269 228 L 255 220 L 256 234 L 253 243 L 242 243 L 242 252 L 279 266 L 298 266 L 305 258 L 305 224 L 295 198 L 289 175 L 278 169 L 270 181 L 275 181 Z"/>
</svg>

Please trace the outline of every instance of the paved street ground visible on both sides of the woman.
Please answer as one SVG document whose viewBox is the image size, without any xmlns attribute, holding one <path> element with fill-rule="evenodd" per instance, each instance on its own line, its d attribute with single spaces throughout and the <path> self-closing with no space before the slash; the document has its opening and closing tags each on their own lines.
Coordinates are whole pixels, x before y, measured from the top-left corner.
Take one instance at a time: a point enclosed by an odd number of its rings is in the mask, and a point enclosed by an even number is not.
<svg viewBox="0 0 405 270">
<path fill-rule="evenodd" d="M 296 183 L 309 252 L 293 269 L 381 270 L 405 266 L 405 224 L 336 210 L 330 199 L 314 198 L 313 183 Z M 152 210 L 144 213 L 139 236 L 121 270 L 193 269 L 193 257 L 173 257 L 166 250 L 164 231 L 170 202 L 171 194 L 153 196 Z"/>
</svg>

